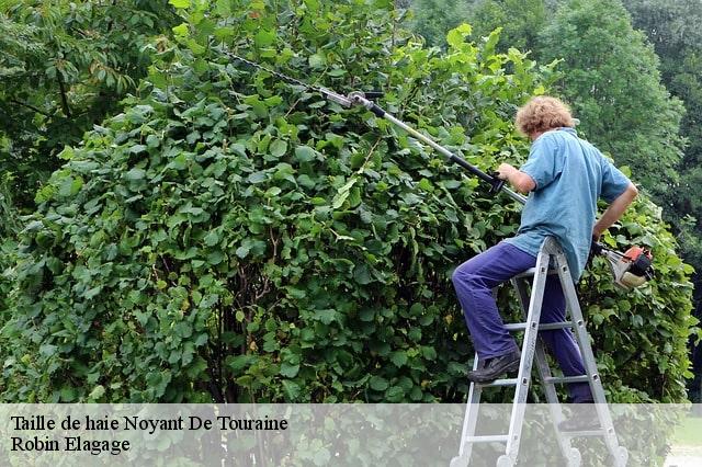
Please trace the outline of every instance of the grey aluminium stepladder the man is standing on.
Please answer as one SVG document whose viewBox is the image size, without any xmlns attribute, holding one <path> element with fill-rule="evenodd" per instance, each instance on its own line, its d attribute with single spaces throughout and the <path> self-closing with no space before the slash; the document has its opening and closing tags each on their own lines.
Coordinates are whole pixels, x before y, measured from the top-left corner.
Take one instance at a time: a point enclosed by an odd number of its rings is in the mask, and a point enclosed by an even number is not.
<svg viewBox="0 0 702 467">
<path fill-rule="evenodd" d="M 550 275 L 556 275 L 561 282 L 566 303 L 566 315 L 565 319 L 561 322 L 544 323 L 541 322 L 541 311 L 544 303 L 544 289 Z M 552 280 L 553 278 L 555 277 L 552 277 Z M 472 465 L 471 457 L 477 443 L 499 443 L 505 446 L 503 454 L 499 455 L 496 460 L 498 467 L 517 465 L 520 456 L 520 443 L 524 428 L 524 415 L 528 406 L 526 398 L 531 385 L 532 369 L 535 369 L 535 373 L 539 375 L 547 402 L 548 418 L 555 431 L 555 438 L 558 443 L 561 456 L 563 457 L 558 465 L 567 465 L 568 467 L 580 466 L 580 452 L 571 445 L 571 441 L 582 436 L 599 436 L 607 447 L 611 465 L 616 467 L 625 466 L 629 453 L 626 448 L 619 443 L 575 284 L 570 276 L 566 257 L 558 242 L 553 237 L 547 237 L 541 246 L 534 267 L 512 277 L 511 283 L 517 292 L 524 321 L 506 323 L 505 327 L 510 332 L 523 332 L 519 369 L 516 377 L 505 377 L 485 384 L 471 383 L 458 444 L 458 455 L 451 460 L 451 467 Z M 546 357 L 546 350 L 539 333 L 564 329 L 573 332 L 575 341 L 577 342 L 585 367 L 585 374 L 582 375 L 554 376 L 552 374 Z M 476 353 L 473 369 L 480 368 L 484 364 Z M 587 410 L 596 412 L 598 421 L 597 429 L 580 431 L 564 431 L 561 429 L 565 415 L 558 400 L 556 385 L 573 383 L 587 383 L 589 385 L 593 403 L 587 405 Z M 478 425 L 480 415 L 480 396 L 483 389 L 489 387 L 514 388 L 507 433 L 477 434 L 476 426 Z"/>
</svg>

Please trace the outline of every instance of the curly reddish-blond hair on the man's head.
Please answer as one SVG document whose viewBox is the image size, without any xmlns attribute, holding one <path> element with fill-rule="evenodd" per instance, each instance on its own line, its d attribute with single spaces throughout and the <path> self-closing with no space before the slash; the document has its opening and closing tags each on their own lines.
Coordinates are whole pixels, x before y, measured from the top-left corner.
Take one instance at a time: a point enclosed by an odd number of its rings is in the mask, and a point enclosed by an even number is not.
<svg viewBox="0 0 702 467">
<path fill-rule="evenodd" d="M 563 126 L 575 126 L 570 109 L 556 98 L 532 98 L 517 111 L 517 129 L 526 136 Z"/>
</svg>

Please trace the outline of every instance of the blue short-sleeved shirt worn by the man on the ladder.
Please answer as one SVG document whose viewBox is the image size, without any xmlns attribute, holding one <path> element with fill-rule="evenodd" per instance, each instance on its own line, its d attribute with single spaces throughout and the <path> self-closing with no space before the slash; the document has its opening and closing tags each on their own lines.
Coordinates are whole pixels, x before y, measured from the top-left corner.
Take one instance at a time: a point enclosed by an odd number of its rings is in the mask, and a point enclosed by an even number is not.
<svg viewBox="0 0 702 467">
<path fill-rule="evenodd" d="M 535 257 L 544 238 L 554 236 L 577 282 L 588 260 L 598 198 L 611 203 L 630 180 L 573 128 L 539 136 L 519 170 L 536 186 L 529 193 L 517 236 L 505 241 Z"/>
</svg>

